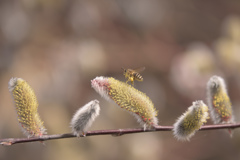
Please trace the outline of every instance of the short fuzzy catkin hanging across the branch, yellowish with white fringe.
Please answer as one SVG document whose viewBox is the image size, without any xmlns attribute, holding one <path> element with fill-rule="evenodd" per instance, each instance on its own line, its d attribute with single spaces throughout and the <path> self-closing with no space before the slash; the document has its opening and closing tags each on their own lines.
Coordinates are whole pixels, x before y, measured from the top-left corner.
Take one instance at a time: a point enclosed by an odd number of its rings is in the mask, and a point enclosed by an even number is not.
<svg viewBox="0 0 240 160">
<path fill-rule="evenodd" d="M 173 134 L 178 140 L 189 141 L 208 118 L 208 107 L 203 101 L 195 101 L 173 125 Z"/>
</svg>

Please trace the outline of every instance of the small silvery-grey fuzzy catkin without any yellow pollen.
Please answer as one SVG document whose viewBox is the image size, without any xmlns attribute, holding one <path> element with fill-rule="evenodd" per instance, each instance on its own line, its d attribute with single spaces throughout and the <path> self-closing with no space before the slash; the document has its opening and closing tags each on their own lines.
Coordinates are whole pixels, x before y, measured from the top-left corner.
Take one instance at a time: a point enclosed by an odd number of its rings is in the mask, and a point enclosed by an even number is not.
<svg viewBox="0 0 240 160">
<path fill-rule="evenodd" d="M 81 134 L 85 136 L 85 132 L 97 118 L 99 112 L 100 106 L 98 100 L 90 101 L 83 107 L 79 108 L 73 115 L 70 123 L 73 134 L 77 137 L 80 137 Z"/>
</svg>

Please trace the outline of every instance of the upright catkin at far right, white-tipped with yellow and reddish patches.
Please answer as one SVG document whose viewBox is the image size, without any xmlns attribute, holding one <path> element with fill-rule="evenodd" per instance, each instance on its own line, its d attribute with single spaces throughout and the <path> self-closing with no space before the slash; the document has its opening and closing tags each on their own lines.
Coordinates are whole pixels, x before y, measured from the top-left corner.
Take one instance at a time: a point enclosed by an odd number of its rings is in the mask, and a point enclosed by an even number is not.
<svg viewBox="0 0 240 160">
<path fill-rule="evenodd" d="M 212 76 L 207 83 L 207 101 L 214 124 L 234 123 L 232 104 L 224 79 Z M 231 134 L 231 130 L 229 130 Z"/>
</svg>

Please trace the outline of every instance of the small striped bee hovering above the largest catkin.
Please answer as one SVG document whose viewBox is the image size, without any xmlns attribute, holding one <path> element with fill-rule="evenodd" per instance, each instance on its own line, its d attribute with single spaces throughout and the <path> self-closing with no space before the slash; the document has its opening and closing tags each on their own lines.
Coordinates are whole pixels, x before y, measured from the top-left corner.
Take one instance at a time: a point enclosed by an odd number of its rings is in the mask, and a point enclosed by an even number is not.
<svg viewBox="0 0 240 160">
<path fill-rule="evenodd" d="M 123 75 L 127 79 L 126 83 L 131 81 L 132 85 L 134 85 L 134 81 L 143 81 L 142 76 L 139 74 L 139 72 L 142 72 L 145 70 L 145 67 L 140 67 L 137 69 L 124 69 L 123 70 Z"/>
</svg>

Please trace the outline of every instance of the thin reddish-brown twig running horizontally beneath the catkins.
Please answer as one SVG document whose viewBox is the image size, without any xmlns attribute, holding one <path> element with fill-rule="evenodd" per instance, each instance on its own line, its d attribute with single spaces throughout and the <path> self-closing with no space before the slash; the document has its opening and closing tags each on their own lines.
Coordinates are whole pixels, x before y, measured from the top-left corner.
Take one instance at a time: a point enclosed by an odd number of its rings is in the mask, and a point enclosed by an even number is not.
<svg viewBox="0 0 240 160">
<path fill-rule="evenodd" d="M 216 130 L 216 129 L 234 129 L 239 128 L 240 123 L 235 124 L 221 124 L 221 125 L 205 125 L 200 128 L 200 131 L 204 130 Z M 133 134 L 133 133 L 141 133 L 141 132 L 157 132 L 157 131 L 172 131 L 172 126 L 157 126 L 156 129 L 143 130 L 137 128 L 131 129 L 114 129 L 114 130 L 96 130 L 96 131 L 88 131 L 86 136 L 97 136 L 97 135 L 112 135 L 112 136 L 121 136 L 124 134 Z M 35 141 L 47 141 L 53 139 L 63 139 L 63 138 L 73 138 L 76 137 L 72 133 L 66 134 L 55 134 L 55 135 L 43 135 L 42 137 L 33 137 L 33 138 L 6 138 L 0 139 L 0 144 L 2 145 L 13 145 L 17 143 L 27 143 L 27 142 L 35 142 Z M 83 137 L 83 136 L 81 136 Z"/>
</svg>

